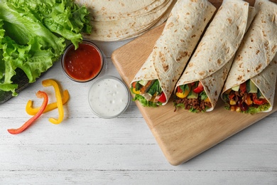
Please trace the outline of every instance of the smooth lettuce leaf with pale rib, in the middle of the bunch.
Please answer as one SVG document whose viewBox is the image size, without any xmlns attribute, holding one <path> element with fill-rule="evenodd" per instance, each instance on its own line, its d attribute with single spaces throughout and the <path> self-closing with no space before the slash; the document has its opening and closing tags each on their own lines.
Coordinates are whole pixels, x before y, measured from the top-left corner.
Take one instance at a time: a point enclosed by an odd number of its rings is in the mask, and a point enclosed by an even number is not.
<svg viewBox="0 0 277 185">
<path fill-rule="evenodd" d="M 65 38 L 55 36 L 42 22 L 28 11 L 16 9 L 12 2 L 4 1 L 0 6 L 0 19 L 4 21 L 5 36 L 10 37 L 18 45 L 28 44 L 32 38 L 39 37 L 43 49 L 52 48 L 56 56 L 60 56 L 65 48 Z"/>
</svg>

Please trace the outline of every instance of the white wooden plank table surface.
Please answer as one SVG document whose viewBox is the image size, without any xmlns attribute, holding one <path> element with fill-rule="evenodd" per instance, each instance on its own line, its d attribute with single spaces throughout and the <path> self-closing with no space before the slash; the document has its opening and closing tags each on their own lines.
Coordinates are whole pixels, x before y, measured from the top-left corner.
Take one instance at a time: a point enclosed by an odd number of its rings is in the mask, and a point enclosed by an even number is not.
<svg viewBox="0 0 277 185">
<path fill-rule="evenodd" d="M 107 57 L 101 75 L 119 73 L 111 55 L 128 41 L 95 42 Z M 65 120 L 53 125 L 43 114 L 18 135 L 6 129 L 20 127 L 31 116 L 26 102 L 38 90 L 49 93 L 41 81 L 53 78 L 70 93 Z M 179 166 L 170 165 L 134 102 L 120 117 L 105 120 L 89 109 L 89 83 L 75 83 L 55 63 L 17 97 L 0 105 L 0 184 L 277 184 L 277 112 L 256 122 L 217 146 Z"/>
</svg>

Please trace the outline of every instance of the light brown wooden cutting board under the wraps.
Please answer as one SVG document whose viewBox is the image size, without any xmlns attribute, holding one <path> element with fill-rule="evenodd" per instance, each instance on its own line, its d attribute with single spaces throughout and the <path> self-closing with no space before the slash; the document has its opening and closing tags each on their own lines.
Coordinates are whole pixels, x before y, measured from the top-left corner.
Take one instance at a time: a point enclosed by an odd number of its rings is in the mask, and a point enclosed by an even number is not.
<svg viewBox="0 0 277 185">
<path fill-rule="evenodd" d="M 219 7 L 219 1 L 211 1 Z M 251 1 L 251 4 L 254 2 Z M 164 24 L 118 48 L 112 61 L 121 78 L 129 86 L 163 31 Z M 163 154 L 172 165 L 187 162 L 215 144 L 249 127 L 277 110 L 277 93 L 271 112 L 246 115 L 224 109 L 220 99 L 212 112 L 174 112 L 172 98 L 162 107 L 143 107 L 136 102 Z"/>
</svg>

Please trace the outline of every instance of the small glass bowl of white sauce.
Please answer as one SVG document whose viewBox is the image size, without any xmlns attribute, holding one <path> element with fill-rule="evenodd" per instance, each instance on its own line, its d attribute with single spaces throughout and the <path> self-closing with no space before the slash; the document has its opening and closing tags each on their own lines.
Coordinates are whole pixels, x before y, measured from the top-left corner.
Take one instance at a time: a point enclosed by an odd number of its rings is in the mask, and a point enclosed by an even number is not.
<svg viewBox="0 0 277 185">
<path fill-rule="evenodd" d="M 131 95 L 127 86 L 114 76 L 97 78 L 89 88 L 88 101 L 94 115 L 114 118 L 129 106 Z"/>
</svg>

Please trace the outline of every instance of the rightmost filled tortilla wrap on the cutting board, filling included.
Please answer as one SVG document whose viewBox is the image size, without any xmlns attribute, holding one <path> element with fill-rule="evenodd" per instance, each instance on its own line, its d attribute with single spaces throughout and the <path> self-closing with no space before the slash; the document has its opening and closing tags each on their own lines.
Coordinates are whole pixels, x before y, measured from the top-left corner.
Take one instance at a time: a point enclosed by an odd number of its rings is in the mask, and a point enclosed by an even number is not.
<svg viewBox="0 0 277 185">
<path fill-rule="evenodd" d="M 255 8 L 258 13 L 239 47 L 221 95 L 227 108 L 237 112 L 269 112 L 273 107 L 277 75 L 277 4 L 256 0 Z M 254 90 L 248 88 L 245 92 L 242 88 L 245 83 Z M 229 96 L 232 93 L 236 95 Z"/>
</svg>

